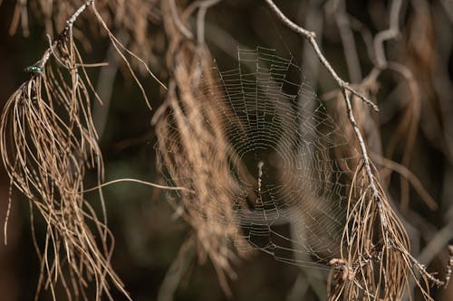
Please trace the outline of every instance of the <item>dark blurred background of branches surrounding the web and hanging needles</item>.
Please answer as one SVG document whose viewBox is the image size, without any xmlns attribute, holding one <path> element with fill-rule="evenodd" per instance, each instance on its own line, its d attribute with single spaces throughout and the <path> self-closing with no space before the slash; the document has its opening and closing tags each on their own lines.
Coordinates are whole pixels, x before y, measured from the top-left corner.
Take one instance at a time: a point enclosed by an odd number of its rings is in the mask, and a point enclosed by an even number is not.
<svg viewBox="0 0 453 301">
<path fill-rule="evenodd" d="M 159 1 L 104 2 L 98 6 L 111 31 L 166 82 L 171 71 L 165 62 L 168 37 Z M 275 4 L 296 24 L 317 33 L 325 57 L 343 80 L 359 84 L 379 62 L 375 38 L 389 28 L 394 2 L 285 0 Z M 81 4 L 76 0 L 0 1 L 2 106 L 29 78 L 24 68 L 39 60 L 48 47 L 45 34 L 58 33 Z M 176 4 L 182 10 L 192 3 Z M 376 147 L 400 166 L 392 169 L 382 160 L 375 160 L 395 208 L 410 228 L 411 240 L 417 241 L 413 254 L 428 264 L 429 271 L 440 271 L 442 275 L 448 259 L 447 245 L 453 242 L 453 2 L 403 0 L 396 14 L 399 28 L 394 38 L 384 42 L 383 50 L 388 61 L 402 67 L 381 71 L 371 93 L 381 112 L 371 125 L 362 126 L 368 130 L 367 135 L 380 135 L 380 146 Z M 195 18 L 189 17 L 191 30 L 195 24 Z M 112 50 L 91 12 L 85 12 L 75 28 L 74 37 L 79 39 L 85 61 L 109 62 L 108 67 L 90 69 L 92 83 L 103 100 L 103 106 L 94 104 L 92 112 L 100 134 L 105 180 L 129 177 L 164 183 L 156 168 L 152 112 L 146 108 L 124 62 Z M 205 31 L 207 47 L 221 70 L 236 66 L 237 47 L 275 48 L 279 55 L 293 58 L 302 67 L 320 99 L 328 108 L 333 107 L 335 82 L 320 66 L 312 48 L 285 28 L 263 1 L 220 1 L 207 10 Z M 159 84 L 149 79 L 139 64 L 133 67 L 141 74 L 152 107 L 159 108 L 165 99 Z M 409 133 L 415 133 L 413 141 L 407 141 Z M 5 170 L 1 171 L 3 225 L 10 190 Z M 401 184 L 401 174 L 410 179 L 407 189 Z M 106 187 L 104 193 L 109 226 L 116 239 L 112 265 L 134 300 L 158 299 L 172 267 L 183 267 L 175 300 L 228 299 L 212 264 L 184 255 L 195 252 L 184 245 L 192 231 L 184 221 L 175 219 L 166 193 L 136 183 L 117 183 Z M 8 243 L 0 245 L 0 298 L 31 300 L 39 262 L 31 239 L 29 206 L 20 193 L 13 191 L 11 197 Z M 92 193 L 94 202 L 96 197 Z M 44 231 L 44 224 L 38 223 L 37 237 L 43 237 Z M 4 240 L 3 231 L 0 238 Z M 238 277 L 229 282 L 234 300 L 325 297 L 322 281 L 264 253 L 256 252 L 241 260 L 235 269 Z M 419 298 L 417 293 L 415 297 Z M 433 289 L 433 297 L 453 299 L 453 286 Z M 163 300 L 163 296 L 160 298 Z M 50 299 L 46 292 L 40 296 L 40 300 Z"/>
</svg>

